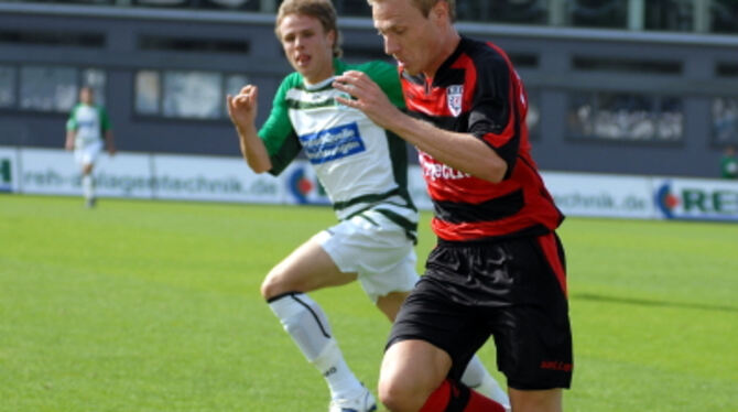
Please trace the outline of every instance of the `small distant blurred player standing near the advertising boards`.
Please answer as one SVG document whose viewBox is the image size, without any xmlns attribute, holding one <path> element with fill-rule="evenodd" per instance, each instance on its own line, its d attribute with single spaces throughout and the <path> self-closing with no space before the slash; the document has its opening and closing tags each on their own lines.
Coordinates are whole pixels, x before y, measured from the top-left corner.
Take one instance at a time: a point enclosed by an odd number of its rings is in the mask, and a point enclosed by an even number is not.
<svg viewBox="0 0 738 412">
<path fill-rule="evenodd" d="M 84 86 L 79 89 L 79 102 L 72 109 L 66 122 L 66 150 L 74 149 L 74 158 L 82 167 L 82 186 L 87 207 L 95 206 L 95 177 L 93 169 L 100 151 L 102 138 L 107 141 L 108 153 L 116 153 L 112 127 L 108 112 L 100 105 L 95 105 L 93 88 Z"/>
</svg>

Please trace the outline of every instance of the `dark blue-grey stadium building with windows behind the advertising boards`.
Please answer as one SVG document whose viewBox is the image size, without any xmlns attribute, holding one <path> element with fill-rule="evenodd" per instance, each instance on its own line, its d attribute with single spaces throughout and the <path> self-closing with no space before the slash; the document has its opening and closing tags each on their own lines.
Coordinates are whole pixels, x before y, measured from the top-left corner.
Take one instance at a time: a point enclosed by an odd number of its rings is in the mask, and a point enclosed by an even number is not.
<svg viewBox="0 0 738 412">
<path fill-rule="evenodd" d="M 93 84 L 121 151 L 238 155 L 223 96 L 253 82 L 271 104 L 289 71 L 279 3 L 0 2 L 0 113 L 21 144 L 57 148 L 76 90 Z M 335 4 L 346 58 L 388 58 L 366 0 Z M 510 53 L 544 169 L 709 177 L 738 143 L 738 2 L 478 0 L 457 12 L 462 33 Z"/>
</svg>

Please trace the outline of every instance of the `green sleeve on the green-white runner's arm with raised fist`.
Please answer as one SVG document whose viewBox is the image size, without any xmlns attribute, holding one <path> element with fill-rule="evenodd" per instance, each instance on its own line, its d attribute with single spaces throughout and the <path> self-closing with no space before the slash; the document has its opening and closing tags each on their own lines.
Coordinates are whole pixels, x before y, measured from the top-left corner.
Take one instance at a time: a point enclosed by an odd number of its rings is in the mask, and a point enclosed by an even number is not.
<svg viewBox="0 0 738 412">
<path fill-rule="evenodd" d="M 272 111 L 269 113 L 267 122 L 259 129 L 259 138 L 264 142 L 272 162 L 272 169 L 269 173 L 275 176 L 282 173 L 302 150 L 297 134 L 292 128 L 286 105 L 287 90 L 301 82 L 302 77 L 297 73 L 293 73 L 282 80 L 274 95 Z"/>
</svg>

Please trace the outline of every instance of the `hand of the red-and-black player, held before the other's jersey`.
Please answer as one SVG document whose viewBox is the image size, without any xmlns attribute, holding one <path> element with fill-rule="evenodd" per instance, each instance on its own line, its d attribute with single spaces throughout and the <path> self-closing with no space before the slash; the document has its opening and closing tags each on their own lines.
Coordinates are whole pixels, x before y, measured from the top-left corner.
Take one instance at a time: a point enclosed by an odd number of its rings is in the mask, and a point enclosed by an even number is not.
<svg viewBox="0 0 738 412">
<path fill-rule="evenodd" d="M 366 73 L 345 72 L 336 77 L 333 87 L 354 97 L 354 99 L 337 97 L 338 102 L 363 111 L 371 121 L 384 129 L 392 129 L 392 122 L 398 120 L 398 115 L 402 115 Z"/>
</svg>

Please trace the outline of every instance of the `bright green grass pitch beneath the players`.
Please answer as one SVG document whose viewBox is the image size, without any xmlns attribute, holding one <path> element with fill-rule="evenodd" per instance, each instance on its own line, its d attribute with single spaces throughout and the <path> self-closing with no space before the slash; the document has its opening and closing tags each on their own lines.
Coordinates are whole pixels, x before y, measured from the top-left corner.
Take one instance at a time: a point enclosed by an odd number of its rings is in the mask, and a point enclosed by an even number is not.
<svg viewBox="0 0 738 412">
<path fill-rule="evenodd" d="M 334 221 L 324 207 L 0 195 L 0 411 L 326 411 L 259 285 Z M 569 218 L 560 235 L 566 411 L 738 410 L 738 225 Z M 357 284 L 314 297 L 376 389 L 389 323 Z M 493 350 L 480 355 L 501 379 Z"/>
</svg>

